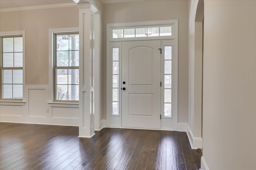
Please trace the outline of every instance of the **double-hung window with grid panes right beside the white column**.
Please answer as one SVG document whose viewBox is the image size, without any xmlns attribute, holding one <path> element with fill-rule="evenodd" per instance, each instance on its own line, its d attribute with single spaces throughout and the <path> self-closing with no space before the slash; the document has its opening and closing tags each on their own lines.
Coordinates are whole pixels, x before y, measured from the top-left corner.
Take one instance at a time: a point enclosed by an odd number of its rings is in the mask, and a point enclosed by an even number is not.
<svg viewBox="0 0 256 170">
<path fill-rule="evenodd" d="M 54 35 L 54 101 L 79 100 L 79 34 Z"/>
</svg>

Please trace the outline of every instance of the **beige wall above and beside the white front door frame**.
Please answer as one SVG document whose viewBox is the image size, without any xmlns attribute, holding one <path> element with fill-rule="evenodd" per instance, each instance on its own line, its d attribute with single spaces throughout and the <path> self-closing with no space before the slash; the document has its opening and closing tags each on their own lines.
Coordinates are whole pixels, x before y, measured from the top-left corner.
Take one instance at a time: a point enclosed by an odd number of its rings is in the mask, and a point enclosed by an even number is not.
<svg viewBox="0 0 256 170">
<path fill-rule="evenodd" d="M 103 116 L 106 119 L 106 24 L 178 19 L 178 122 L 188 123 L 188 1 L 142 0 L 104 4 Z"/>
</svg>

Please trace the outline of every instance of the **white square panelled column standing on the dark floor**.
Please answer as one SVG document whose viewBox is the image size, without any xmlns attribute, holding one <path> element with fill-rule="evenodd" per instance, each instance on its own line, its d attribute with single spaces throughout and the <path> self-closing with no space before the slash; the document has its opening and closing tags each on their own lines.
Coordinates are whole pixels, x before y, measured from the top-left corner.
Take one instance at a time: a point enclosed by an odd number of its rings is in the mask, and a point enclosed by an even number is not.
<svg viewBox="0 0 256 170">
<path fill-rule="evenodd" d="M 78 4 L 79 9 L 79 137 L 94 135 L 93 65 L 94 13 L 92 4 Z"/>
</svg>

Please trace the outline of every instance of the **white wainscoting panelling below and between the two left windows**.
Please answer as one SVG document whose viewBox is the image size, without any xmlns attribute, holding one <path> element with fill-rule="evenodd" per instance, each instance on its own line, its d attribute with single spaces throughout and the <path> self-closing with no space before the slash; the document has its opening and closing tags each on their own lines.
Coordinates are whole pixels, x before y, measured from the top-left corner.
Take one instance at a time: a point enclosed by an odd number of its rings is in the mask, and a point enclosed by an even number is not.
<svg viewBox="0 0 256 170">
<path fill-rule="evenodd" d="M 26 85 L 23 101 L 0 102 L 0 121 L 78 126 L 78 104 L 51 101 L 48 86 Z"/>
</svg>

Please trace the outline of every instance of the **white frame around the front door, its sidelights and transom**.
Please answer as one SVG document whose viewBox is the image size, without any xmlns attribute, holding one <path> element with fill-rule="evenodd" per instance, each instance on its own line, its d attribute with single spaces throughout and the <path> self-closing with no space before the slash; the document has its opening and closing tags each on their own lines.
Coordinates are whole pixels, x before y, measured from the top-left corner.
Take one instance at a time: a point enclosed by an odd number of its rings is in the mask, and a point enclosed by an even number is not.
<svg viewBox="0 0 256 170">
<path fill-rule="evenodd" d="M 165 27 L 172 26 L 172 35 L 158 36 L 158 37 L 134 37 L 134 38 L 112 38 L 113 29 L 123 28 L 138 28 L 138 27 Z M 173 48 L 172 55 L 172 118 L 164 117 L 164 111 L 161 109 L 161 129 L 176 131 L 178 125 L 178 20 L 160 20 L 160 21 L 144 21 L 144 22 L 130 22 L 130 23 L 111 23 L 107 24 L 107 120 L 106 127 L 124 128 L 122 127 L 122 114 L 121 114 L 121 91 L 119 93 L 119 115 L 112 115 L 112 48 L 119 48 L 119 62 L 122 63 L 121 51 L 122 41 L 139 41 L 139 40 L 161 40 L 161 48 L 164 49 L 165 45 L 171 45 Z M 163 50 L 162 50 L 163 51 Z M 163 60 L 163 53 L 161 56 Z M 162 62 L 163 63 L 163 62 Z M 119 64 L 119 75 L 121 64 Z M 163 72 L 163 67 L 161 68 Z M 162 80 L 163 82 L 163 74 Z M 119 85 L 121 84 L 121 77 L 119 78 Z M 120 89 L 120 86 L 119 86 Z M 161 88 L 161 96 L 163 95 L 163 87 Z M 161 97 L 162 98 L 162 97 Z M 161 106 L 163 101 L 161 101 Z"/>
</svg>

